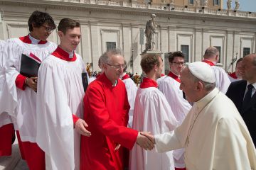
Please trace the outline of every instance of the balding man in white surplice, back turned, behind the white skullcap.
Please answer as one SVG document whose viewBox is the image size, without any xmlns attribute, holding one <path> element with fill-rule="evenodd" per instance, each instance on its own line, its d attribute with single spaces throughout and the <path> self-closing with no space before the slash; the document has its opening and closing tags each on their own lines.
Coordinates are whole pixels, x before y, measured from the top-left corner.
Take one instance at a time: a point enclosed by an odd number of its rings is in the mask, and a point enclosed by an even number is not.
<svg viewBox="0 0 256 170">
<path fill-rule="evenodd" d="M 231 81 L 228 78 L 227 72 L 225 72 L 223 68 L 216 66 L 220 60 L 220 52 L 216 47 L 208 47 L 205 51 L 205 54 L 203 55 L 203 59 L 203 62 L 206 62 L 211 67 L 213 67 L 216 77 L 216 87 L 220 89 L 223 94 L 225 94 L 228 91 L 228 87 Z"/>
</svg>

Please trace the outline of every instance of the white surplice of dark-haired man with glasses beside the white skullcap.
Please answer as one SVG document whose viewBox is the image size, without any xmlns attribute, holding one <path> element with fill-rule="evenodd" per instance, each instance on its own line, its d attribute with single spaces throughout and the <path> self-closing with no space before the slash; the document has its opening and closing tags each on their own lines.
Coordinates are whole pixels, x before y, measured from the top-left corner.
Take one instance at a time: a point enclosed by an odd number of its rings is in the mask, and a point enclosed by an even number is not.
<svg viewBox="0 0 256 170">
<path fill-rule="evenodd" d="M 183 91 L 179 89 L 180 83 L 169 76 L 164 76 L 157 79 L 157 84 L 159 84 L 159 90 L 171 106 L 171 110 L 178 120 L 178 125 L 181 125 L 188 111 L 190 111 L 191 105 L 183 98 Z M 175 167 L 184 168 L 184 149 L 174 150 L 173 155 Z"/>
</svg>

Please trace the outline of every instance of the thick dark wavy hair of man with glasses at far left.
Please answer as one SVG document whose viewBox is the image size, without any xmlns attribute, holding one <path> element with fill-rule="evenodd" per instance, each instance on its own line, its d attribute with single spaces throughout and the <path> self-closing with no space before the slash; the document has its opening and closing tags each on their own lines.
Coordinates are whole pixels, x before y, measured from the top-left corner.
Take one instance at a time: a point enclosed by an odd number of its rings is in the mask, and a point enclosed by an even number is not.
<svg viewBox="0 0 256 170">
<path fill-rule="evenodd" d="M 28 19 L 29 31 L 33 31 L 33 26 L 39 28 L 43 26 L 44 23 L 47 23 L 50 28 L 56 28 L 53 18 L 49 15 L 49 13 L 33 11 L 33 13 Z"/>
</svg>

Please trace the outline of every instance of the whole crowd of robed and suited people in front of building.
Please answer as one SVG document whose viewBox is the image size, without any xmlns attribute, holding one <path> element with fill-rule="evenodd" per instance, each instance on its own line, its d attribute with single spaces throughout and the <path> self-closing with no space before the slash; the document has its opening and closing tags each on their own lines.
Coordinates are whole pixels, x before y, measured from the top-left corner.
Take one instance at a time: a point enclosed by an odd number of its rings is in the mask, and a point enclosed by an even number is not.
<svg viewBox="0 0 256 170">
<path fill-rule="evenodd" d="M 145 53 L 140 81 L 117 49 L 89 73 L 75 52 L 79 21 L 60 20 L 58 45 L 48 13 L 34 11 L 28 27 L 0 43 L 0 157 L 16 132 L 31 170 L 256 169 L 256 54 L 228 75 L 215 47 L 186 67 L 171 52 L 162 75 L 161 55 Z"/>
</svg>

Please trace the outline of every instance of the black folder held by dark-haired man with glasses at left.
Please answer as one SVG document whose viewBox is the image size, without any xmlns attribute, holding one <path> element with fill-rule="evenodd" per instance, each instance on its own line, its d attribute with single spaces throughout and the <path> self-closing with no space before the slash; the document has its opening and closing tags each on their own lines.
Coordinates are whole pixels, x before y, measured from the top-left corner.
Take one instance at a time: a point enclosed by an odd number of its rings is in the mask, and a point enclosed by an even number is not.
<svg viewBox="0 0 256 170">
<path fill-rule="evenodd" d="M 21 55 L 21 71 L 20 73 L 25 77 L 38 77 L 38 69 L 40 62 L 33 60 L 31 57 Z"/>
</svg>

